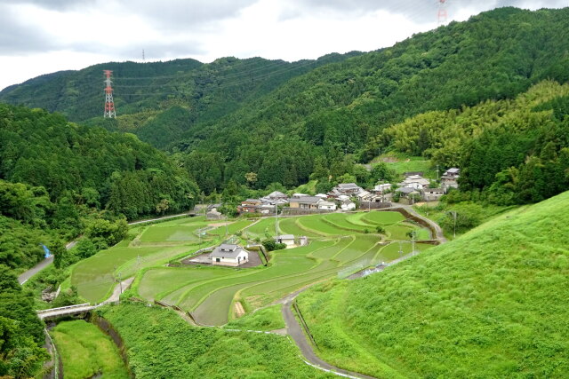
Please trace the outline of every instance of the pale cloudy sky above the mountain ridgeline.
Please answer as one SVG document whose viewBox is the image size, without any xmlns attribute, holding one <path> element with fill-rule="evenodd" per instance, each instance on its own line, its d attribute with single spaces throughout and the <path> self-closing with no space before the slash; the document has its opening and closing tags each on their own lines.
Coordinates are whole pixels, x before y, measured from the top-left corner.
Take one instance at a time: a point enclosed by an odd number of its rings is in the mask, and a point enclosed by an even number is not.
<svg viewBox="0 0 569 379">
<path fill-rule="evenodd" d="M 317 59 L 373 51 L 501 6 L 569 0 L 0 0 L 0 90 L 108 61 Z M 144 60 L 143 52 L 144 51 Z"/>
</svg>

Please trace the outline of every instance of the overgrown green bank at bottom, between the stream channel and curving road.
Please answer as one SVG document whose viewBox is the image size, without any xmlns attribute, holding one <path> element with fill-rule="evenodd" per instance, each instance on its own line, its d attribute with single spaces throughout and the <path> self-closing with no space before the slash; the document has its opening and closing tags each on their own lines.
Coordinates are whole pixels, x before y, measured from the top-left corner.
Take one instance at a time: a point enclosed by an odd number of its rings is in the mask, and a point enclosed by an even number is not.
<svg viewBox="0 0 569 379">
<path fill-rule="evenodd" d="M 319 378 L 284 336 L 194 328 L 175 312 L 129 305 L 108 307 L 136 377 Z"/>
</svg>

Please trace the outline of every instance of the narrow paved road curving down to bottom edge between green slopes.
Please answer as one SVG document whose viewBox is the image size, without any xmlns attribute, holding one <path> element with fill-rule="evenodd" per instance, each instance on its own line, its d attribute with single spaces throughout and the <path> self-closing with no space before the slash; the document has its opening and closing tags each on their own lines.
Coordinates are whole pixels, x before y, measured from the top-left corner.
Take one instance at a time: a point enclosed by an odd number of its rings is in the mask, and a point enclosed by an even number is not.
<svg viewBox="0 0 569 379">
<path fill-rule="evenodd" d="M 283 299 L 283 318 L 284 324 L 286 324 L 286 332 L 289 336 L 293 338 L 294 343 L 301 349 L 302 356 L 306 359 L 309 364 L 322 368 L 325 371 L 332 371 L 335 373 L 339 373 L 341 376 L 350 377 L 350 378 L 367 378 L 367 379 L 375 379 L 373 376 L 354 373 L 348 370 L 344 370 L 338 367 L 334 367 L 324 360 L 317 357 L 314 350 L 312 350 L 312 345 L 307 340 L 304 332 L 302 331 L 302 327 L 299 322 L 294 317 L 293 311 L 291 307 L 293 305 L 293 300 L 298 296 L 302 291 L 308 288 L 301 289 L 300 291 L 296 291 L 293 294 L 284 297 Z"/>
</svg>

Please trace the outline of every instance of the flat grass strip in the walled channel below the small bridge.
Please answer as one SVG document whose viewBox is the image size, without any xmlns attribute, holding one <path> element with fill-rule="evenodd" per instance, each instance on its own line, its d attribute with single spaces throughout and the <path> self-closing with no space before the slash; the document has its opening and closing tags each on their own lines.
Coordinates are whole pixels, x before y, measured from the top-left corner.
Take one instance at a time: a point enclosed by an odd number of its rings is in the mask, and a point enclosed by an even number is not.
<svg viewBox="0 0 569 379">
<path fill-rule="evenodd" d="M 116 344 L 95 325 L 84 320 L 62 321 L 52 329 L 51 335 L 66 378 L 130 377 Z"/>
</svg>

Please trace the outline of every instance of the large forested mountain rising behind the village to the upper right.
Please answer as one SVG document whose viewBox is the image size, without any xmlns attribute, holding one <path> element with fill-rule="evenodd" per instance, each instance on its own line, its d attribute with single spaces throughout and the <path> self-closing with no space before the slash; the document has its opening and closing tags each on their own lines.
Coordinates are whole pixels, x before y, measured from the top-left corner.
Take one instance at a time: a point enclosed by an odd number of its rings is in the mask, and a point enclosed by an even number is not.
<svg viewBox="0 0 569 379">
<path fill-rule="evenodd" d="M 258 186 L 306 180 L 315 161 L 295 159 L 291 145 L 331 168 L 345 154 L 366 161 L 388 147 L 377 142 L 381 130 L 408 116 L 513 98 L 544 78 L 565 82 L 569 42 L 558 32 L 569 27 L 568 16 L 568 9 L 502 8 L 317 68 L 251 107 L 189 130 L 180 149 L 221 154 L 226 182 L 244 183 L 250 170 L 259 174 Z"/>
</svg>

